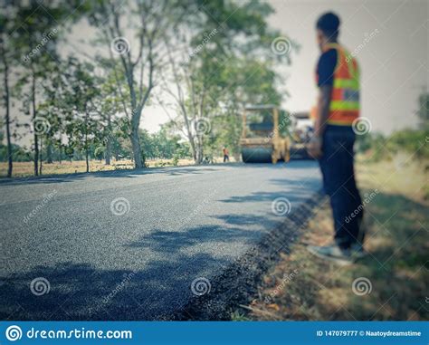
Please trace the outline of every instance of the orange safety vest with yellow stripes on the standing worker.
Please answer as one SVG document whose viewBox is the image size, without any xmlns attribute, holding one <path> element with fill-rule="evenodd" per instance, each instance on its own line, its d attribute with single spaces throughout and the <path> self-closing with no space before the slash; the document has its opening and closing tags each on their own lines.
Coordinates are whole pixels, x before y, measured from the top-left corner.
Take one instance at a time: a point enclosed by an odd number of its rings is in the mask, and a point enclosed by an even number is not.
<svg viewBox="0 0 429 345">
<path fill-rule="evenodd" d="M 338 43 L 329 43 L 329 49 L 337 50 L 337 66 L 329 105 L 328 123 L 351 126 L 359 116 L 358 62 Z"/>
</svg>

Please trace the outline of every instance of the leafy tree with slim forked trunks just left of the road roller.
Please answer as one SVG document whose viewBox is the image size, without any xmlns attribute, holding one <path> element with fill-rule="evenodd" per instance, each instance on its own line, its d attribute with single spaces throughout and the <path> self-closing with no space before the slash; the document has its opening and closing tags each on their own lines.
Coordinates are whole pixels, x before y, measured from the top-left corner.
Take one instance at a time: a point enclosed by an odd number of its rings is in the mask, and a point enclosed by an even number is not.
<svg viewBox="0 0 429 345">
<path fill-rule="evenodd" d="M 174 36 L 173 43 L 168 41 L 167 46 L 180 41 L 184 49 L 167 50 L 169 69 L 164 70 L 161 87 L 172 102 L 162 95 L 157 100 L 167 113 L 173 108 L 180 114 L 182 119 L 170 118 L 188 139 L 197 164 L 204 156 L 204 138 L 209 139 L 214 123 L 220 124 L 214 114 L 237 114 L 246 101 L 281 101 L 270 62 L 289 62 L 290 56 L 272 53 L 272 42 L 280 33 L 269 28 L 269 14 L 272 7 L 259 1 L 240 5 L 212 1 L 204 4 L 191 26 Z M 264 79 L 263 84 L 258 78 Z M 234 125 L 236 136 L 241 120 L 226 123 Z"/>
</svg>

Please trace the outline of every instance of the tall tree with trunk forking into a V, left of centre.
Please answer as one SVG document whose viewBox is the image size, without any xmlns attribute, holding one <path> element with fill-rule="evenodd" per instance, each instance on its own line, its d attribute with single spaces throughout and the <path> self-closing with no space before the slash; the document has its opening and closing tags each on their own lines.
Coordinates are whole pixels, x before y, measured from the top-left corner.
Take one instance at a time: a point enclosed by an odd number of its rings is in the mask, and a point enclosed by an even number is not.
<svg viewBox="0 0 429 345">
<path fill-rule="evenodd" d="M 148 104 L 155 86 L 155 73 L 161 68 L 162 37 L 175 33 L 176 26 L 182 24 L 181 20 L 189 13 L 191 3 L 179 0 L 139 0 L 127 2 L 127 6 L 119 6 L 112 0 L 91 2 L 90 23 L 99 29 L 101 41 L 109 49 L 110 59 L 120 61 L 116 79 L 123 111 L 130 119 L 129 139 L 135 168 L 144 167 L 138 126 L 141 112 Z M 125 24 L 135 30 L 137 45 L 130 45 L 131 38 L 126 38 Z M 122 88 L 122 77 L 126 79 L 127 92 Z"/>
</svg>

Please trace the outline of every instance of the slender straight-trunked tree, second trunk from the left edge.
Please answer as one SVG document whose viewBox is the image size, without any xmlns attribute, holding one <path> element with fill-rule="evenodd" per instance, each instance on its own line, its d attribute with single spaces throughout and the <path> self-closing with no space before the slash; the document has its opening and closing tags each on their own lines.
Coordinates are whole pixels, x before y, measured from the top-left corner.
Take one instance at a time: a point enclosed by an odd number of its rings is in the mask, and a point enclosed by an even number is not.
<svg viewBox="0 0 429 345">
<path fill-rule="evenodd" d="M 33 127 L 33 166 L 34 175 L 38 175 L 39 136 L 49 130 L 49 124 L 38 117 L 38 104 L 42 99 L 38 86 L 49 81 L 52 64 L 59 62 L 56 44 L 60 39 L 59 23 L 67 18 L 65 24 L 71 24 L 81 15 L 81 6 L 77 0 L 67 3 L 52 2 L 41 6 L 38 1 L 17 1 L 14 4 L 14 20 L 19 23 L 14 29 L 13 49 L 22 53 L 22 72 L 17 91 L 24 104 L 24 110 L 31 114 Z M 77 10 L 75 10 L 77 8 Z"/>
</svg>

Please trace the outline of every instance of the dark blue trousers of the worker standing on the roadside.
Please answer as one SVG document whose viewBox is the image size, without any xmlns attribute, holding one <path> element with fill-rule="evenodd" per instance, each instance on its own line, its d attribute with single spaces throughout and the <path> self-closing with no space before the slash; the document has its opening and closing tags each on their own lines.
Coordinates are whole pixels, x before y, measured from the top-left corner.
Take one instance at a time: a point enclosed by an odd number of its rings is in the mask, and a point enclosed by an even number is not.
<svg viewBox="0 0 429 345">
<path fill-rule="evenodd" d="M 349 126 L 327 126 L 323 134 L 323 156 L 319 159 L 323 188 L 330 198 L 335 242 L 348 248 L 363 242 L 359 234 L 363 205 L 354 172 L 355 133 Z"/>
</svg>

